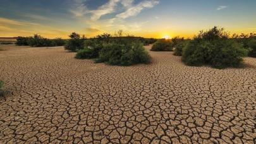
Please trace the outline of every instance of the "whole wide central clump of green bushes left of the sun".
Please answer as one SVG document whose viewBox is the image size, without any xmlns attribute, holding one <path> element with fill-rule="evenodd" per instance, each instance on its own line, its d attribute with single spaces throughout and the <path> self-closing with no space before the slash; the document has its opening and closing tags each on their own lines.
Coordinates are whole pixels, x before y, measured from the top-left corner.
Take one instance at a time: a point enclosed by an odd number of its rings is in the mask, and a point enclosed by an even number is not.
<svg viewBox="0 0 256 144">
<path fill-rule="evenodd" d="M 95 59 L 96 63 L 119 66 L 151 62 L 151 57 L 141 42 L 125 37 L 113 39 L 107 33 L 98 35 L 95 39 L 85 40 L 84 48 L 77 52 L 76 58 Z"/>
</svg>

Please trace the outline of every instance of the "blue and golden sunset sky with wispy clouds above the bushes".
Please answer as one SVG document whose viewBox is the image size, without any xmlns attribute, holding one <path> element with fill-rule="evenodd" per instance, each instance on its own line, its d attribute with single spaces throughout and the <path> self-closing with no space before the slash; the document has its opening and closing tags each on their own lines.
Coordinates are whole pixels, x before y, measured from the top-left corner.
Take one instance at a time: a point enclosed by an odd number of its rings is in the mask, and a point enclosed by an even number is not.
<svg viewBox="0 0 256 144">
<path fill-rule="evenodd" d="M 141 37 L 193 37 L 214 26 L 256 32 L 255 0 L 0 0 L 0 37 L 66 39 L 123 30 Z"/>
</svg>

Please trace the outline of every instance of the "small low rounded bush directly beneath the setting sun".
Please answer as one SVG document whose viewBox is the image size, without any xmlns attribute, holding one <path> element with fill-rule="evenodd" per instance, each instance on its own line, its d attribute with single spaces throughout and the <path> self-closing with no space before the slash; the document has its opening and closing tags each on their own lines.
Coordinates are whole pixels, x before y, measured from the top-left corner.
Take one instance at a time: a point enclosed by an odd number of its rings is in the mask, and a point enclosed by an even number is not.
<svg viewBox="0 0 256 144">
<path fill-rule="evenodd" d="M 173 43 L 171 40 L 157 40 L 150 51 L 173 51 Z"/>
</svg>

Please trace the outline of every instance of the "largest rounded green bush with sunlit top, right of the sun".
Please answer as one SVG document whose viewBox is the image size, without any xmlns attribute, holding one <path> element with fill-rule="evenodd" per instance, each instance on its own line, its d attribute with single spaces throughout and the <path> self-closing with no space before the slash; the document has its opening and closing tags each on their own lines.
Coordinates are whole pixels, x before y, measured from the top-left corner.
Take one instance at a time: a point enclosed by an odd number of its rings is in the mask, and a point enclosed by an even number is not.
<svg viewBox="0 0 256 144">
<path fill-rule="evenodd" d="M 228 39 L 223 28 L 214 27 L 201 31 L 183 49 L 182 61 L 189 66 L 209 64 L 214 68 L 239 66 L 247 49 L 234 40 Z"/>
</svg>

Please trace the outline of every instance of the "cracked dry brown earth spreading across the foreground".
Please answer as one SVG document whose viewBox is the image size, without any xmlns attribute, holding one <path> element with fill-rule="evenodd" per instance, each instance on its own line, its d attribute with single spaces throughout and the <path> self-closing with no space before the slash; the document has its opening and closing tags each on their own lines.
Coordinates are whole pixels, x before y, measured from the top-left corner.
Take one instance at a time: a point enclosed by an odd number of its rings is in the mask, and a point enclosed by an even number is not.
<svg viewBox="0 0 256 144">
<path fill-rule="evenodd" d="M 152 64 L 120 67 L 1 48 L 0 143 L 256 143 L 254 58 L 220 70 L 150 52 Z"/>
</svg>

